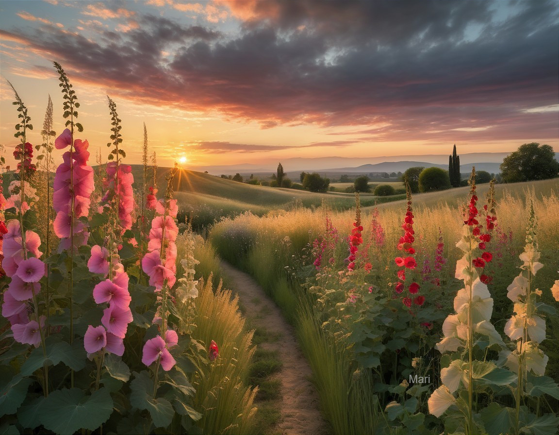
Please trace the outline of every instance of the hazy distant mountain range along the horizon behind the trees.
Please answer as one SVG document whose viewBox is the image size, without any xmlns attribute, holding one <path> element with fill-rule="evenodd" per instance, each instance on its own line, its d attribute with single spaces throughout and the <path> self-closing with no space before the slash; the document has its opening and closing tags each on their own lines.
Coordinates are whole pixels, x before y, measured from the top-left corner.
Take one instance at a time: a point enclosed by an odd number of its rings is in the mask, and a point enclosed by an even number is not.
<svg viewBox="0 0 559 435">
<path fill-rule="evenodd" d="M 500 172 L 499 166 L 503 159 L 510 153 L 469 153 L 459 154 L 460 172 L 468 173 L 475 166 L 478 171 L 489 173 Z M 559 153 L 555 153 L 559 160 Z M 371 173 L 371 172 L 404 172 L 415 166 L 439 167 L 448 169 L 448 155 L 423 154 L 423 155 L 396 155 L 389 157 L 316 157 L 316 158 L 289 158 L 282 159 L 281 164 L 286 172 L 315 171 L 315 172 L 340 172 L 340 173 Z M 221 166 L 196 166 L 188 167 L 192 171 L 207 171 L 210 174 L 241 174 L 246 173 L 274 173 L 278 162 L 267 161 L 260 164 L 233 164 Z"/>
</svg>

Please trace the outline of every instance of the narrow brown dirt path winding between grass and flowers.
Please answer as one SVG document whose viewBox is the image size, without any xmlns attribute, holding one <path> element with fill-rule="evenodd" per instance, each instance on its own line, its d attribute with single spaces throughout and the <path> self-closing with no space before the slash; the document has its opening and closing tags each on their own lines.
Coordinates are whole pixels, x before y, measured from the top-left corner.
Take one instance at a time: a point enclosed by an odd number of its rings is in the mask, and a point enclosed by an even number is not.
<svg viewBox="0 0 559 435">
<path fill-rule="evenodd" d="M 277 351 L 283 363 L 277 373 L 281 380 L 281 415 L 278 430 L 283 435 L 323 435 L 327 426 L 319 411 L 319 398 L 309 381 L 312 372 L 295 339 L 295 330 L 283 318 L 280 309 L 247 273 L 221 261 L 231 287 L 239 294 L 245 315 L 257 328 L 278 334 L 277 341 L 263 343 L 263 349 Z"/>
</svg>

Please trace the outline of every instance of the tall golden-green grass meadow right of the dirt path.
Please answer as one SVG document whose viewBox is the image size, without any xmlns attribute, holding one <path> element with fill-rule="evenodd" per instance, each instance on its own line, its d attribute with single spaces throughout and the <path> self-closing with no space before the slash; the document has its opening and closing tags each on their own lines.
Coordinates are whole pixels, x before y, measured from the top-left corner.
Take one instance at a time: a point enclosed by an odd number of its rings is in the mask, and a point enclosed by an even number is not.
<svg viewBox="0 0 559 435">
<path fill-rule="evenodd" d="M 488 190 L 489 185 L 477 188 L 479 210 L 485 204 Z M 425 312 L 431 309 L 434 313 L 429 330 L 423 332 L 425 342 L 434 343 L 442 337 L 442 320 L 453 312 L 454 296 L 464 285 L 454 278 L 454 272 L 456 262 L 461 257 L 456 243 L 461 239 L 464 224 L 462 216 L 468 193 L 469 187 L 462 187 L 419 194 L 412 198 L 415 258 L 418 263 L 416 280 L 420 280 L 422 294 L 428 301 L 422 308 L 429 307 Z M 543 302 L 557 306 L 549 287 L 559 278 L 559 181 L 552 179 L 496 185 L 495 201 L 495 234 L 487 248 L 491 250 L 495 261 L 491 266 L 487 263 L 487 273 L 492 276 L 488 285 L 494 300 L 491 321 L 503 335 L 505 323 L 513 313 L 513 303 L 506 298 L 507 287 L 518 275 L 519 266 L 522 266 L 518 256 L 524 250 L 530 204 L 534 206 L 537 221 L 538 249 L 541 252 L 539 260 L 544 264 L 537 276 L 533 277 L 532 285 L 542 290 Z M 367 422 L 375 422 L 373 425 L 379 431 L 385 431 L 397 423 L 392 421 L 394 414 L 386 413 L 385 408 L 390 400 L 399 400 L 397 397 L 401 392 L 398 393 L 394 385 L 390 390 L 377 385 L 378 375 L 381 374 L 377 373 L 375 378 L 375 370 L 363 370 L 356 360 L 358 344 L 352 342 L 352 335 L 356 334 L 356 325 L 363 324 L 364 320 L 359 320 L 356 309 L 348 301 L 350 298 L 353 298 L 352 301 L 367 300 L 366 289 L 369 288 L 371 292 L 369 286 L 383 294 L 392 294 L 397 282 L 394 259 L 401 255 L 396 245 L 402 235 L 401 223 L 405 211 L 405 201 L 362 207 L 363 246 L 366 249 L 363 255 L 372 267 L 364 275 L 362 271 L 348 274 L 347 262 L 343 261 L 348 255 L 347 237 L 353 228 L 355 209 L 340 210 L 323 204 L 320 207 L 296 207 L 282 212 L 269 212 L 264 216 L 247 211 L 219 221 L 210 232 L 211 243 L 217 252 L 253 275 L 283 309 L 286 318 L 296 326 L 302 348 L 314 370 L 314 381 L 333 433 L 364 433 L 363 424 Z M 331 226 L 326 232 L 328 220 Z M 331 249 L 329 264 L 328 259 L 323 259 L 320 269 L 315 268 L 312 263 L 316 259 L 317 242 L 328 239 L 332 229 L 337 242 Z M 444 264 L 440 271 L 434 272 L 437 248 L 440 248 Z M 429 272 L 426 272 L 428 268 Z M 434 277 L 438 280 L 437 285 L 433 284 Z M 321 282 L 324 283 L 322 287 Z M 319 287 L 322 292 L 316 290 Z M 556 315 L 547 316 L 546 334 L 547 339 L 541 345 L 549 357 L 546 375 L 557 382 L 559 352 L 553 345 L 559 341 Z M 417 354 L 410 354 L 410 366 L 412 355 Z M 402 356 L 399 364 L 404 364 L 405 358 Z M 430 360 L 430 379 L 434 388 L 440 384 L 440 353 L 431 349 L 422 358 Z M 393 383 L 398 379 L 398 369 L 395 367 L 388 371 L 385 368 L 383 372 L 384 376 L 391 373 Z M 383 390 L 375 392 L 378 388 Z M 348 391 L 351 392 L 350 396 Z M 404 393 L 401 393 L 401 398 L 404 404 Z M 419 401 L 416 400 L 413 409 L 410 407 L 410 415 L 399 418 L 419 418 L 421 414 L 422 430 L 427 431 L 425 433 L 439 433 L 443 428 L 442 423 L 435 421 L 432 415 L 427 415 L 425 393 L 416 399 Z M 556 399 L 546 400 L 547 404 L 542 406 L 548 412 L 553 412 L 557 405 Z M 513 405 L 510 399 L 504 398 L 502 401 L 506 406 Z M 356 414 L 356 410 L 364 415 Z M 419 413 L 414 414 L 416 410 Z M 410 421 L 405 420 L 404 426 Z"/>
</svg>

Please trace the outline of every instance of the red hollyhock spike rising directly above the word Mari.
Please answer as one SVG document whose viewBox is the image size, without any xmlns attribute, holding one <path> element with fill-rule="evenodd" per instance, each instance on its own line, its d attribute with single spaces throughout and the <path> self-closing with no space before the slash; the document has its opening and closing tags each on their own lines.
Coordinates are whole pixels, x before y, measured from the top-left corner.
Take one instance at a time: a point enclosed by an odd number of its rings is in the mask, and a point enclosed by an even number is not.
<svg viewBox="0 0 559 435">
<path fill-rule="evenodd" d="M 394 259 L 396 266 L 400 268 L 397 272 L 398 282 L 394 286 L 394 291 L 397 294 L 401 294 L 406 289 L 406 269 L 413 270 L 417 266 L 415 262 L 415 249 L 413 243 L 414 238 L 414 214 L 411 209 L 411 194 L 408 189 L 408 207 L 406 209 L 406 217 L 404 218 L 404 223 L 402 223 L 402 229 L 404 229 L 404 235 L 400 237 L 397 248 L 399 250 L 404 250 L 409 255 L 406 257 L 396 257 Z M 421 306 L 425 303 L 425 296 L 418 295 L 419 284 L 415 281 L 411 282 L 408 286 L 408 295 L 402 299 L 402 303 L 411 308 L 412 302 L 415 305 Z"/>
</svg>

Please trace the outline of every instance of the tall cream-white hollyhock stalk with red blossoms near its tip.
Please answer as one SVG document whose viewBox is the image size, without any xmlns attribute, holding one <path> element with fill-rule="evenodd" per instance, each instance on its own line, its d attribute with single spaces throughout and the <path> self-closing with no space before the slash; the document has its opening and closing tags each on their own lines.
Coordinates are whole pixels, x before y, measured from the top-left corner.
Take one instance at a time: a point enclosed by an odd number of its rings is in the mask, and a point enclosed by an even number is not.
<svg viewBox="0 0 559 435">
<path fill-rule="evenodd" d="M 493 299 L 487 285 L 480 280 L 478 269 L 491 260 L 489 252 L 479 254 L 482 225 L 478 219 L 475 168 L 470 176 L 470 201 L 466 207 L 462 238 L 456 247 L 464 255 L 456 263 L 456 278 L 464 281 L 464 288 L 454 298 L 456 314 L 449 315 L 443 323 L 444 338 L 436 347 L 441 353 L 452 352 L 453 360 L 440 371 L 441 386 L 428 400 L 429 412 L 440 417 L 451 405 L 456 405 L 464 417 L 460 429 L 468 434 L 479 433 L 475 423 L 476 404 L 473 399 L 474 381 L 497 367 L 495 363 L 476 360 L 479 342 L 475 335 L 484 336 L 489 346 L 504 347 L 495 327 L 490 323 Z M 459 351 L 459 352 L 457 352 Z M 484 358 L 485 360 L 485 358 Z M 457 393 L 457 397 L 454 396 Z"/>
</svg>

